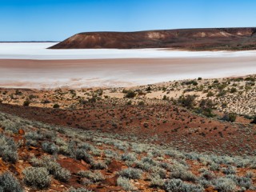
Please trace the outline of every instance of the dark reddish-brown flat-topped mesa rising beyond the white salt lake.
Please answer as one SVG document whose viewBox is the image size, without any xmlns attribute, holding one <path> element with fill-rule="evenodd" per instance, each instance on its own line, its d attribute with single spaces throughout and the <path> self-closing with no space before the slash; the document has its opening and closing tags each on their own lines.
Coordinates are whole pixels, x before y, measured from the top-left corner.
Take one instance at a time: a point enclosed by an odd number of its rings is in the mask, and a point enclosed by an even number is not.
<svg viewBox="0 0 256 192">
<path fill-rule="evenodd" d="M 255 50 L 256 27 L 75 34 L 50 49 Z"/>
</svg>

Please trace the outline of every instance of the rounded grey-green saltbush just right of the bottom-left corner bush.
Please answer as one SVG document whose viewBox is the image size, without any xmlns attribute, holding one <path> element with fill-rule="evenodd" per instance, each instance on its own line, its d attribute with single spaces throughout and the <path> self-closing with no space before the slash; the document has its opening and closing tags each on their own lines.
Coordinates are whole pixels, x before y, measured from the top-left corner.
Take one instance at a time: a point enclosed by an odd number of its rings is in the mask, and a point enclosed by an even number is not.
<svg viewBox="0 0 256 192">
<path fill-rule="evenodd" d="M 23 170 L 24 182 L 36 189 L 46 189 L 50 186 L 51 178 L 45 167 L 29 167 Z"/>
</svg>

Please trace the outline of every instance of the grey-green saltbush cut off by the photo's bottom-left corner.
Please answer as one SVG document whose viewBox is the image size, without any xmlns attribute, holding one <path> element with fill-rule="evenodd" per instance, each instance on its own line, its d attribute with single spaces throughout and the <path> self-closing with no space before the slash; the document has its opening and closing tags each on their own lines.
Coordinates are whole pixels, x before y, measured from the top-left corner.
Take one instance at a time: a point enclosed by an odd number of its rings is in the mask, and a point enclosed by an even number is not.
<svg viewBox="0 0 256 192">
<path fill-rule="evenodd" d="M 0 191 L 3 192 L 23 192 L 21 184 L 9 172 L 0 174 Z"/>
</svg>

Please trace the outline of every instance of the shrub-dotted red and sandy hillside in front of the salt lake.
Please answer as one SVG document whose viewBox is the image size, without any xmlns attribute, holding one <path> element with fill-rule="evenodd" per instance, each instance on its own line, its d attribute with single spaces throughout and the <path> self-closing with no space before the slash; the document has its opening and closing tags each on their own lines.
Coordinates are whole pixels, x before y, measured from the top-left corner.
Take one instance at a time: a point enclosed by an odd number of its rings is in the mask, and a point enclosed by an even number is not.
<svg viewBox="0 0 256 192">
<path fill-rule="evenodd" d="M 0 191 L 256 191 L 256 75 L 0 89 Z"/>
</svg>

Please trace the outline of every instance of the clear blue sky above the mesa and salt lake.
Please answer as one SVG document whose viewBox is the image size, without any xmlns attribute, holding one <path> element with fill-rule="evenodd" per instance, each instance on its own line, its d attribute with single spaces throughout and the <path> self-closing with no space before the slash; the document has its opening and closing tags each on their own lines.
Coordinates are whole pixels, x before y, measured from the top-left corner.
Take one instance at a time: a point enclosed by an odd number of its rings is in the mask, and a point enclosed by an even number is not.
<svg viewBox="0 0 256 192">
<path fill-rule="evenodd" d="M 254 0 L 0 0 L 0 41 L 86 31 L 256 26 Z"/>
</svg>

